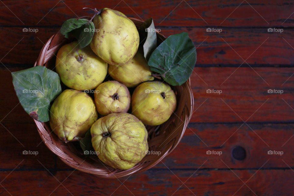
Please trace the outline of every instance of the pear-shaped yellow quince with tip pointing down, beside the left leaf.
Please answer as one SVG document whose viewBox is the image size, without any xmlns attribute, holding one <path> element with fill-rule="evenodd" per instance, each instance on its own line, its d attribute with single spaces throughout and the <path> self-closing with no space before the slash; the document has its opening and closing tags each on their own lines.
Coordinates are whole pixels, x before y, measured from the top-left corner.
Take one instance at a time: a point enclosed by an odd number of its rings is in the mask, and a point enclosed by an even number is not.
<svg viewBox="0 0 294 196">
<path fill-rule="evenodd" d="M 85 92 L 67 89 L 50 109 L 50 127 L 63 141 L 75 141 L 85 133 L 98 117 L 92 98 Z"/>
</svg>

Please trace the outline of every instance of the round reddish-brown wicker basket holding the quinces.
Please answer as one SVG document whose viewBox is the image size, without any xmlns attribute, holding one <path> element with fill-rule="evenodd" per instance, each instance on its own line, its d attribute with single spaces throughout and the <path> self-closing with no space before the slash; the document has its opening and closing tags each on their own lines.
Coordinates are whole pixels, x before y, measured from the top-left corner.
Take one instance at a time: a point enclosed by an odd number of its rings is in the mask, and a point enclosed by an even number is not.
<svg viewBox="0 0 294 196">
<path fill-rule="evenodd" d="M 137 28 L 143 21 L 130 18 Z M 157 32 L 157 42 L 160 44 L 165 37 Z M 49 69 L 55 67 L 55 59 L 59 48 L 68 40 L 60 34 L 53 35 L 43 46 L 34 66 L 46 66 Z M 117 170 L 103 164 L 96 155 L 85 156 L 77 142 L 67 144 L 59 140 L 51 131 L 49 123 L 35 121 L 38 132 L 45 145 L 59 158 L 72 168 L 95 174 L 104 178 L 119 178 L 139 171 L 145 171 L 159 163 L 179 144 L 194 107 L 194 99 L 190 88 L 190 79 L 181 86 L 173 86 L 177 96 L 177 108 L 167 122 L 160 126 L 147 126 L 148 145 L 150 151 L 160 151 L 158 154 L 147 154 L 140 163 L 128 170 Z"/>
</svg>

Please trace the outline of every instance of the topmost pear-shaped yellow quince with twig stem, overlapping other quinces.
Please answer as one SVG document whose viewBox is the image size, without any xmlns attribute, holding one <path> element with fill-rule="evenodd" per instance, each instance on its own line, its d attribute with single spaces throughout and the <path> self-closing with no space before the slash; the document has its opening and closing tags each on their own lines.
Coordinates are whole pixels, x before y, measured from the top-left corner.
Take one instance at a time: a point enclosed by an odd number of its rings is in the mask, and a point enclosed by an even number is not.
<svg viewBox="0 0 294 196">
<path fill-rule="evenodd" d="M 109 8 L 100 11 L 93 19 L 97 30 L 90 46 L 96 55 L 109 64 L 126 63 L 138 50 L 138 30 L 123 13 Z"/>
</svg>

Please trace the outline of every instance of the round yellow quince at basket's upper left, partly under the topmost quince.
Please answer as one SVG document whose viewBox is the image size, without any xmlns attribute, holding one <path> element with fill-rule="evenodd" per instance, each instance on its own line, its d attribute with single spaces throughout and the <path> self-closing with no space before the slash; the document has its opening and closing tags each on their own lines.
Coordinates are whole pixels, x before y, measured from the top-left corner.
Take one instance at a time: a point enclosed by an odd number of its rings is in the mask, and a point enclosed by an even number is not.
<svg viewBox="0 0 294 196">
<path fill-rule="evenodd" d="M 56 72 L 61 81 L 72 89 L 95 89 L 107 74 L 107 63 L 89 46 L 79 48 L 78 42 L 74 41 L 59 49 Z"/>
</svg>

